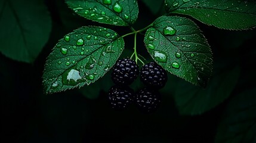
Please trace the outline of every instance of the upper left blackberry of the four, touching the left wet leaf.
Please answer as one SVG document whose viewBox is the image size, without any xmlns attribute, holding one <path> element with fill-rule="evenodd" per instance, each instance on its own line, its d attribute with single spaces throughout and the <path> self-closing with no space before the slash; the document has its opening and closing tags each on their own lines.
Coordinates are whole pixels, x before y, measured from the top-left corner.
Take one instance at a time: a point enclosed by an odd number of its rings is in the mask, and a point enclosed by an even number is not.
<svg viewBox="0 0 256 143">
<path fill-rule="evenodd" d="M 116 85 L 130 85 L 140 73 L 134 60 L 123 58 L 113 67 L 111 78 Z"/>
</svg>

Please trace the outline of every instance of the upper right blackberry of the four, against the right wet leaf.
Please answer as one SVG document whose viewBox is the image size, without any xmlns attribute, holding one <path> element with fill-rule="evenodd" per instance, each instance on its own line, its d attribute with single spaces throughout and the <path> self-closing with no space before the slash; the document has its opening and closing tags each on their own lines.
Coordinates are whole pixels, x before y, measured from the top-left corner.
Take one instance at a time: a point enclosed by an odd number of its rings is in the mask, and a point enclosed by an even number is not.
<svg viewBox="0 0 256 143">
<path fill-rule="evenodd" d="M 140 80 L 150 88 L 161 89 L 167 82 L 167 73 L 157 63 L 150 62 L 141 67 Z"/>
</svg>

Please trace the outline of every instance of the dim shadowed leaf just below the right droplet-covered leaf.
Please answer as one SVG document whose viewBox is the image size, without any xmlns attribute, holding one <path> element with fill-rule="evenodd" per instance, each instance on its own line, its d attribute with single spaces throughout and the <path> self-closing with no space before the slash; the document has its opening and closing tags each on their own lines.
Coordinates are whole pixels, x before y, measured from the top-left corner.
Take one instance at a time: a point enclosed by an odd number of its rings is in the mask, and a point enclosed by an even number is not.
<svg viewBox="0 0 256 143">
<path fill-rule="evenodd" d="M 235 67 L 232 70 L 215 73 L 205 89 L 185 82 L 176 83 L 174 99 L 179 113 L 202 114 L 216 107 L 226 100 L 235 89 L 239 71 L 239 68 Z"/>
</svg>

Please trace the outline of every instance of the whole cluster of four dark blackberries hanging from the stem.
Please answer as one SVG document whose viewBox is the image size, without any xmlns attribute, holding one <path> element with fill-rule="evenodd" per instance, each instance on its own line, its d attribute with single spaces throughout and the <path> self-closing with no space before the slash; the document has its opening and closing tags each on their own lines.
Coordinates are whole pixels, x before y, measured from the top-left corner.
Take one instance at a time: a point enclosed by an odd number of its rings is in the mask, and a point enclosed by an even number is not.
<svg viewBox="0 0 256 143">
<path fill-rule="evenodd" d="M 135 93 L 129 85 L 139 74 L 141 82 L 146 87 Z M 159 107 L 161 95 L 158 90 L 165 86 L 167 73 L 155 62 L 147 63 L 139 70 L 135 61 L 123 58 L 116 62 L 111 77 L 115 83 L 108 93 L 112 108 L 124 110 L 134 102 L 140 111 L 151 113 Z"/>
</svg>

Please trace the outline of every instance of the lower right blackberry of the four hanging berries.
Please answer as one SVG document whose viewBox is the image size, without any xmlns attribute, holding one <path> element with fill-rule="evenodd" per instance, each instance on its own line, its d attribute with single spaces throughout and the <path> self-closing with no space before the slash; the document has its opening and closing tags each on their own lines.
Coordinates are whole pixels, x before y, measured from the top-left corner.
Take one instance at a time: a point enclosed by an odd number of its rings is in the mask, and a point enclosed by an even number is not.
<svg viewBox="0 0 256 143">
<path fill-rule="evenodd" d="M 135 104 L 143 113 L 152 113 L 161 103 L 161 96 L 158 91 L 143 88 L 136 94 Z"/>
</svg>

